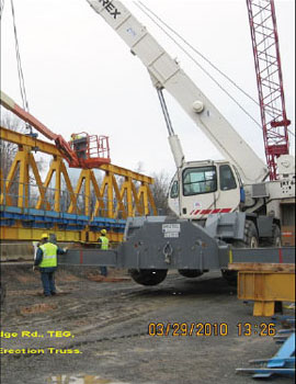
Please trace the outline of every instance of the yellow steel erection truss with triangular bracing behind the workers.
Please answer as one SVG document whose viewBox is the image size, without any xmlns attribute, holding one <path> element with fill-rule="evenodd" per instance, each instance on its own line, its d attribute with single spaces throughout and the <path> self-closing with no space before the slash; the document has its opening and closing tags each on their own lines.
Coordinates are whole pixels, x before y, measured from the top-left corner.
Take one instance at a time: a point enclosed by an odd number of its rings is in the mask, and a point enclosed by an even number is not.
<svg viewBox="0 0 296 384">
<path fill-rule="evenodd" d="M 89 219 L 105 217 L 112 219 L 127 218 L 135 215 L 156 215 L 156 206 L 149 185 L 153 180 L 147 176 L 133 172 L 114 165 L 102 165 L 102 181 L 99 182 L 94 170 L 82 169 L 73 188 L 62 157 L 56 146 L 1 127 L 1 140 L 19 146 L 5 180 L 1 174 L 1 210 L 7 206 L 18 208 L 35 208 L 44 211 L 66 212 L 84 215 Z M 53 156 L 49 169 L 42 181 L 33 150 Z M 18 178 L 16 178 L 18 176 Z M 33 182 L 32 182 L 33 176 Z M 35 183 L 37 200 L 34 204 L 30 197 L 30 188 Z M 15 184 L 18 193 L 15 193 Z M 12 188 L 14 185 L 14 195 Z M 62 193 L 67 192 L 67 206 L 61 208 Z M 48 195 L 52 194 L 53 202 Z M 64 204 L 65 205 L 65 204 Z M 3 223 L 3 222 L 2 222 Z M 1 239 L 30 240 L 37 239 L 43 229 L 23 228 L 18 222 L 12 226 L 1 225 Z M 87 226 L 83 230 L 54 229 L 61 241 L 96 241 L 98 233 Z M 111 239 L 119 241 L 122 234 L 113 231 Z"/>
</svg>

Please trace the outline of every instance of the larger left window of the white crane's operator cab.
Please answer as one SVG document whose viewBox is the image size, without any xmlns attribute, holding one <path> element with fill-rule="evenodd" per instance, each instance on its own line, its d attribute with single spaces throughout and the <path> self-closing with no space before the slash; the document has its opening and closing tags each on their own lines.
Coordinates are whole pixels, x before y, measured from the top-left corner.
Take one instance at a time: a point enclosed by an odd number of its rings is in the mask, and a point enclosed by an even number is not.
<svg viewBox="0 0 296 384">
<path fill-rule="evenodd" d="M 216 167 L 187 168 L 183 172 L 183 195 L 209 193 L 217 190 Z"/>
</svg>

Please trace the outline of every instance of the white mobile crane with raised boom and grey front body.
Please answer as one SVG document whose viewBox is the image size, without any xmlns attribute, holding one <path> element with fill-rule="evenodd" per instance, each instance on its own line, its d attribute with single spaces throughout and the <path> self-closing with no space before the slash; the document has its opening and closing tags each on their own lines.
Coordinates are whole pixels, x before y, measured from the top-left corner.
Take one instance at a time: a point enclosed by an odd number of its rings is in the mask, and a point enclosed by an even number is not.
<svg viewBox="0 0 296 384">
<path fill-rule="evenodd" d="M 115 252 L 116 262 L 106 258 L 104 262 L 129 268 L 132 278 L 144 285 L 160 283 L 168 269 L 178 269 L 184 276 L 220 269 L 226 279 L 232 280 L 227 270 L 229 244 L 234 249 L 281 246 L 283 212 L 288 212 L 289 217 L 295 212 L 294 158 L 280 157 L 280 180 L 266 181 L 265 163 L 126 7 L 117 0 L 87 1 L 147 68 L 160 98 L 177 166 L 169 206 L 178 218 L 128 219 L 127 241 Z M 225 160 L 185 162 L 180 140 L 170 125 L 163 89 Z M 274 261 L 272 255 L 277 258 L 274 251 L 275 248 L 264 261 Z M 260 259 L 255 250 L 240 255 L 242 258 L 251 255 L 248 260 L 252 261 Z"/>
</svg>

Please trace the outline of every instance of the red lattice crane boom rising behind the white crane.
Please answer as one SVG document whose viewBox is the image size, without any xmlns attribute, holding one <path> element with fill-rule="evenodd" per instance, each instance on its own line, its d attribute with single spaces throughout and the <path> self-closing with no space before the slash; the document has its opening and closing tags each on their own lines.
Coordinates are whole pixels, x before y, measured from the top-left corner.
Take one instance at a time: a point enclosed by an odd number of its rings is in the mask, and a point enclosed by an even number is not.
<svg viewBox="0 0 296 384">
<path fill-rule="evenodd" d="M 261 122 L 270 179 L 277 179 L 276 158 L 289 153 L 283 75 L 274 0 L 247 0 Z"/>
</svg>

